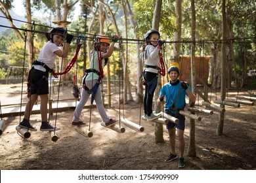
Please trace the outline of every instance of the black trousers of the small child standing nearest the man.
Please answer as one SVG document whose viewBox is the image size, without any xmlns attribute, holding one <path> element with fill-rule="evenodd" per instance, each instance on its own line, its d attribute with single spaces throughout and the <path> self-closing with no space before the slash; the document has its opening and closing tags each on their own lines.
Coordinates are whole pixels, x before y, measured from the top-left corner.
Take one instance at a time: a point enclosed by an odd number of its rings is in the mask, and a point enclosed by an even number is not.
<svg viewBox="0 0 256 183">
<path fill-rule="evenodd" d="M 150 82 L 153 80 L 156 76 L 158 76 L 157 73 L 150 73 L 150 72 L 144 72 L 144 80 L 147 82 Z M 151 85 L 148 86 L 147 84 L 145 85 L 145 94 L 144 94 L 144 114 L 147 114 L 150 116 L 152 114 L 152 103 L 153 103 L 153 97 L 154 97 L 154 92 L 156 90 L 156 86 L 153 88 L 152 94 L 150 94 L 150 89 Z"/>
</svg>

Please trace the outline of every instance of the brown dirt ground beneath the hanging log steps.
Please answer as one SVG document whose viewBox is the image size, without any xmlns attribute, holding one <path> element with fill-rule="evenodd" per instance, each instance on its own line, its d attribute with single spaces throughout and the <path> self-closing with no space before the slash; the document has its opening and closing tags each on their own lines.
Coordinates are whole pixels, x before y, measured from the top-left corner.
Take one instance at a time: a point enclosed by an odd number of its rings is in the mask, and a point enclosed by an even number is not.
<svg viewBox="0 0 256 183">
<path fill-rule="evenodd" d="M 71 88 L 65 86 L 60 90 L 60 98 L 72 98 Z M 244 91 L 243 94 L 247 92 Z M 230 92 L 234 96 L 236 92 Z M 242 93 L 240 93 L 242 94 Z M 53 95 L 56 97 L 57 93 Z M 219 97 L 219 93 L 217 93 Z M 17 85 L 1 85 L 1 105 L 18 103 L 20 87 Z M 77 133 L 71 126 L 74 108 L 58 112 L 51 116 L 51 124 L 61 128 L 56 131 L 59 139 L 51 141 L 47 132 L 39 131 L 40 114 L 32 114 L 32 125 L 37 131 L 28 139 L 22 139 L 15 130 L 20 116 L 3 118 L 6 127 L 0 136 L 0 169 L 1 170 L 168 170 L 179 169 L 178 160 L 165 163 L 169 155 L 169 138 L 163 126 L 164 142 L 154 141 L 154 123 L 139 120 L 140 106 L 135 101 L 119 105 L 119 95 L 112 95 L 112 107 L 106 107 L 112 118 L 125 116 L 127 120 L 144 127 L 138 132 L 125 125 L 125 133 L 117 133 L 100 125 L 101 118 L 92 108 L 90 129 L 93 137 L 88 138 Z M 26 95 L 23 96 L 26 101 Z M 135 98 L 134 98 L 135 99 Z M 200 105 L 201 107 L 201 105 Z M 189 119 L 186 118 L 184 137 L 186 170 L 255 170 L 256 169 L 256 106 L 241 105 L 240 108 L 226 107 L 224 113 L 224 135 L 217 136 L 219 121 L 218 112 L 202 116 L 196 122 L 196 157 L 187 156 L 189 139 Z M 81 118 L 87 122 L 89 129 L 90 109 L 84 108 Z M 23 116 L 21 116 L 23 118 Z M 178 142 L 177 154 L 179 155 Z"/>
</svg>

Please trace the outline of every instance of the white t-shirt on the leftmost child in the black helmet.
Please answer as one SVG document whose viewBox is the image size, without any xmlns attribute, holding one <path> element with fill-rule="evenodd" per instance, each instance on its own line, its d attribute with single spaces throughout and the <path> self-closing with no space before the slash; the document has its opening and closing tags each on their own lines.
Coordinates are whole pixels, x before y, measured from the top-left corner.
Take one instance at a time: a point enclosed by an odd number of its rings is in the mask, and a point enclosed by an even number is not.
<svg viewBox="0 0 256 183">
<path fill-rule="evenodd" d="M 56 55 L 54 54 L 54 52 L 58 50 L 60 50 L 60 48 L 58 48 L 55 43 L 48 41 L 47 43 L 45 43 L 45 45 L 43 45 L 37 61 L 41 61 L 45 63 L 50 69 L 53 69 L 54 61 L 56 59 Z M 34 68 L 39 71 L 46 71 L 46 69 L 41 65 L 34 65 Z"/>
</svg>

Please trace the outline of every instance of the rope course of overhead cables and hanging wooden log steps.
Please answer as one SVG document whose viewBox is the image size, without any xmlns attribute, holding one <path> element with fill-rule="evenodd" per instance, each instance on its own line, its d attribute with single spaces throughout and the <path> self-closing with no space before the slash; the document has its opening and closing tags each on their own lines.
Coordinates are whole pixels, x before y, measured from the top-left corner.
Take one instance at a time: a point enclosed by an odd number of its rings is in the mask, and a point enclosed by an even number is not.
<svg viewBox="0 0 256 183">
<path fill-rule="evenodd" d="M 28 22 L 27 22 L 28 23 Z M 33 24 L 33 25 L 39 25 L 39 24 Z M 5 26 L 5 25 L 0 25 L 1 27 L 7 27 L 7 28 L 12 28 L 12 27 L 9 27 L 9 26 Z M 41 25 L 39 25 L 41 26 Z M 35 33 L 38 33 L 38 34 L 45 34 L 45 32 L 43 31 L 37 31 L 35 29 L 33 30 L 27 30 L 27 29 L 21 29 L 21 28 L 15 28 L 15 29 L 18 29 L 20 31 L 24 31 L 24 33 L 26 33 L 27 31 L 31 31 L 33 34 Z M 77 38 L 77 42 L 79 42 L 81 39 L 83 41 L 85 40 L 88 40 L 88 41 L 93 41 L 93 37 L 76 37 Z M 242 41 L 241 41 L 242 40 Z M 141 41 L 143 42 L 144 40 L 138 40 L 138 39 L 128 39 L 128 38 L 122 38 L 119 40 L 119 56 L 120 56 L 120 64 L 119 64 L 119 67 L 121 67 L 121 54 L 122 54 L 122 44 L 123 44 L 123 41 L 126 41 L 127 44 L 129 42 L 133 42 L 133 41 Z M 215 52 L 216 52 L 216 49 L 217 49 L 217 44 L 223 44 L 223 43 L 226 43 L 228 42 L 229 44 L 230 43 L 236 43 L 236 44 L 245 44 L 245 43 L 255 43 L 255 38 L 252 37 L 252 38 L 238 38 L 238 39 L 228 39 L 228 40 L 215 40 L 215 41 L 207 41 L 207 40 L 200 40 L 200 41 L 166 41 L 165 44 L 173 44 L 173 43 L 182 43 L 182 54 L 184 53 L 184 44 L 191 44 L 191 43 L 194 43 L 194 44 L 200 44 L 201 46 L 199 46 L 200 48 L 200 57 L 201 57 L 201 49 L 202 49 L 202 42 L 203 44 L 214 44 L 214 48 L 215 48 Z M 229 45 L 228 44 L 228 45 Z M 56 75 L 62 75 L 62 74 L 65 74 L 65 73 L 68 73 L 68 71 L 70 71 L 70 69 L 74 66 L 74 63 L 75 63 L 75 60 L 77 59 L 77 54 L 79 52 L 79 48 L 80 48 L 81 44 L 77 43 L 77 49 L 76 49 L 76 53 L 75 53 L 75 56 L 74 56 L 74 59 L 72 59 L 72 62 L 68 65 L 68 67 L 65 69 L 65 71 L 63 72 L 60 72 L 60 73 L 53 73 L 54 76 Z M 230 47 L 228 46 L 228 50 L 227 52 L 229 52 L 229 49 Z M 26 50 L 26 47 L 24 47 L 24 50 Z M 25 54 L 24 54 L 25 55 Z M 228 60 L 228 56 L 229 54 L 227 54 L 227 60 Z M 75 58 L 76 57 L 76 58 Z M 217 59 L 217 56 L 216 54 L 213 55 L 214 57 L 214 64 L 215 64 L 215 67 L 213 67 L 216 72 L 216 67 L 217 67 L 217 64 L 216 64 L 216 59 Z M 181 60 L 181 64 L 182 64 L 182 60 Z M 182 65 L 181 65 L 182 67 Z M 119 77 L 121 77 L 121 69 L 120 69 L 120 75 Z M 216 73 L 215 73 L 216 75 Z M 119 78 L 119 80 L 121 81 L 121 78 Z M 22 82 L 23 83 L 23 82 Z M 60 86 L 60 85 L 59 85 Z M 204 87 L 208 87 L 207 84 L 203 84 Z M 121 86 L 119 86 L 119 89 L 121 90 Z M 212 87 L 211 87 L 212 89 Z M 58 90 L 60 91 L 60 90 Z M 121 92 L 119 92 L 121 93 Z M 200 92 L 198 92 L 200 93 Z M 212 91 L 211 91 L 212 93 Z M 120 94 L 121 95 L 121 94 Z M 251 105 L 253 106 L 255 101 L 256 101 L 256 97 L 254 96 L 240 96 L 240 95 L 237 95 L 236 96 L 236 99 L 224 99 L 224 101 L 220 101 L 217 99 L 217 95 L 216 95 L 216 99 L 211 101 L 211 99 L 208 101 L 207 97 L 206 96 L 203 96 L 202 93 L 199 94 L 200 96 L 202 97 L 205 97 L 203 98 L 204 101 L 202 101 L 202 105 L 207 107 L 206 108 L 196 108 L 196 107 L 188 107 L 188 111 L 183 111 L 181 110 L 180 113 L 184 116 L 187 116 L 188 118 L 192 118 L 194 120 L 197 120 L 197 121 L 201 121 L 202 118 L 200 116 L 198 116 L 198 114 L 200 115 L 212 115 L 213 114 L 213 111 L 215 112 L 225 112 L 225 106 L 229 106 L 229 107 L 236 107 L 236 108 L 239 108 L 240 105 Z M 240 99 L 240 100 L 239 100 Z M 1 108 L 1 105 L 0 105 L 0 108 Z M 119 110 L 120 110 L 121 107 L 119 107 Z M 193 114 L 194 113 L 194 114 Z M 197 115 L 195 115 L 197 114 Z M 57 115 L 56 115 L 57 116 Z M 119 115 L 121 116 L 121 115 Z M 90 117 L 91 118 L 91 117 Z M 143 119 L 142 117 L 139 118 L 139 119 Z M 166 124 L 168 122 L 168 120 L 170 120 L 171 122 L 174 122 L 174 123 L 177 123 L 177 118 L 174 118 L 173 116 L 169 115 L 169 114 L 166 114 L 165 112 L 161 112 L 161 118 L 158 118 L 157 120 L 154 120 L 152 122 L 156 122 L 156 123 L 160 123 L 160 124 Z M 133 122 L 131 122 L 130 120 L 127 120 L 125 118 L 125 115 L 124 115 L 124 112 L 123 112 L 123 116 L 119 117 L 119 122 L 121 122 L 122 124 L 125 124 L 127 127 L 130 127 L 131 129 L 135 129 L 137 131 L 144 131 L 144 127 L 142 127 L 139 124 L 135 124 Z M 56 123 L 56 120 L 55 120 L 55 123 Z M 102 126 L 106 127 L 106 125 L 100 123 Z M 5 120 L 0 120 L 0 133 L 3 133 L 3 128 L 4 128 L 4 125 L 5 125 Z M 85 137 L 93 137 L 93 133 L 90 131 L 90 127 L 89 127 L 89 130 L 88 129 L 85 129 L 85 127 L 82 127 L 82 126 L 77 126 L 77 127 L 74 127 L 75 130 L 79 133 L 81 133 L 81 135 L 84 135 Z M 112 125 L 109 127 L 110 129 L 113 129 L 114 131 L 117 131 L 119 133 L 124 133 L 125 132 L 125 128 L 124 127 L 121 127 L 121 125 Z M 30 138 L 30 131 L 26 130 L 26 129 L 22 129 L 20 127 L 16 127 L 16 131 L 18 131 L 17 133 L 22 136 L 23 138 L 27 139 L 27 138 Z M 51 137 L 52 141 L 57 141 L 58 140 L 58 136 L 55 134 L 55 132 L 50 132 L 49 131 L 49 136 Z"/>
</svg>

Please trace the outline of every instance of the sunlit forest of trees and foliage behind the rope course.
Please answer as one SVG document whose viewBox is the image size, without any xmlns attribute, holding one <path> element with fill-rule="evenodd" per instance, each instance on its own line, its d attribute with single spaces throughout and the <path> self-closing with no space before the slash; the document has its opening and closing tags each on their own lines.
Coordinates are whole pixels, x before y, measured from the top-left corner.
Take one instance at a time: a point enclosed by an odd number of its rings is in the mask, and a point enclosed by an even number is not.
<svg viewBox="0 0 256 183">
<path fill-rule="evenodd" d="M 45 43 L 45 33 L 51 27 L 62 25 L 67 27 L 77 39 L 83 35 L 86 39 L 79 53 L 77 64 L 63 75 L 62 80 L 73 81 L 81 86 L 81 78 L 88 67 L 93 49 L 93 39 L 98 34 L 108 37 L 120 37 L 118 48 L 110 58 L 105 69 L 108 103 L 111 103 L 110 83 L 122 81 L 122 101 L 133 101 L 131 86 L 135 86 L 136 101 L 142 102 L 143 86 L 140 76 L 143 71 L 143 61 L 139 54 L 143 48 L 144 34 L 149 29 L 158 29 L 161 39 L 165 39 L 162 53 L 165 67 L 173 62 L 181 68 L 184 56 L 189 56 L 188 82 L 192 92 L 196 90 L 195 81 L 201 78 L 196 72 L 196 56 L 209 59 L 207 81 L 200 81 L 205 88 L 221 88 L 221 101 L 225 99 L 225 91 L 230 88 L 255 87 L 255 80 L 247 75 L 255 69 L 255 14 L 254 1 L 23 1 L 26 7 L 27 22 L 16 27 L 9 10 L 14 7 L 13 1 L 0 1 L 0 10 L 7 18 L 9 27 L 1 35 L 0 62 L 1 75 L 6 82 L 10 78 L 22 78 L 24 81 L 33 60 Z M 80 3 L 81 14 L 78 20 L 72 21 L 74 5 Z M 43 20 L 33 18 L 33 12 L 42 12 Z M 73 41 L 75 43 L 75 41 Z M 64 71 L 68 62 L 74 56 L 76 44 L 72 44 L 68 59 L 56 59 L 55 71 Z M 201 64 L 201 63 L 200 63 Z M 136 68 L 136 69 L 135 69 Z M 167 70 L 167 69 L 166 69 Z M 106 72 L 107 71 L 107 72 Z M 205 72 L 205 71 L 203 71 Z M 181 69 L 181 76 L 183 70 Z M 204 75 L 204 74 L 203 74 Z M 253 76 L 254 78 L 255 76 Z M 162 79 L 162 78 L 161 78 Z M 166 78 L 168 80 L 168 78 Z M 199 79 L 200 80 L 200 79 Z M 163 80 L 165 82 L 165 80 Z M 161 82 L 156 89 L 155 100 Z M 207 95 L 200 95 L 207 101 Z M 192 106 L 190 106 L 192 107 Z M 222 104 L 221 107 L 224 107 Z M 155 110 L 161 111 L 155 104 Z M 217 135 L 223 134 L 224 112 L 219 115 Z M 156 142 L 163 141 L 162 125 L 156 125 Z M 188 154 L 195 156 L 194 120 L 190 120 L 190 142 Z M 191 147 L 191 148 L 190 148 Z"/>
</svg>

